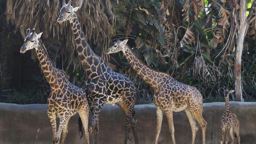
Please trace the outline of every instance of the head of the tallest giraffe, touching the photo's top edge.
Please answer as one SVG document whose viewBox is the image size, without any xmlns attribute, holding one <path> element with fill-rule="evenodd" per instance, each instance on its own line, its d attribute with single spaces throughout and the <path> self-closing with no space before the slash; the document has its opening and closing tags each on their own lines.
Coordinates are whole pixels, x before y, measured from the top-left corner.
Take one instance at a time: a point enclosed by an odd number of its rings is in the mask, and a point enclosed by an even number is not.
<svg viewBox="0 0 256 144">
<path fill-rule="evenodd" d="M 62 23 L 64 21 L 72 21 L 74 12 L 77 11 L 80 7 L 73 8 L 71 6 L 71 0 L 66 4 L 66 1 L 64 0 L 62 2 L 62 8 L 60 9 L 60 16 L 57 19 L 57 22 Z"/>
</svg>

